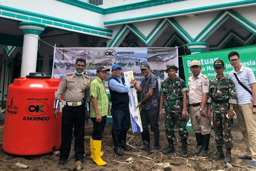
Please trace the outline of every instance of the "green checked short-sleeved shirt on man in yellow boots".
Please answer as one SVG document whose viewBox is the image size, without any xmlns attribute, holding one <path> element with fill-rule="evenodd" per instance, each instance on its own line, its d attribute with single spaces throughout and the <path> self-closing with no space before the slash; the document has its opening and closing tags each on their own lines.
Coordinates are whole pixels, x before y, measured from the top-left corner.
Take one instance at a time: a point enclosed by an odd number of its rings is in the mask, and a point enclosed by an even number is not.
<svg viewBox="0 0 256 171">
<path fill-rule="evenodd" d="M 106 116 L 110 113 L 109 98 L 105 90 L 104 81 L 99 77 L 96 77 L 90 85 L 91 97 L 97 98 L 98 109 L 101 116 Z M 93 104 L 91 103 L 90 117 L 96 117 Z"/>
</svg>

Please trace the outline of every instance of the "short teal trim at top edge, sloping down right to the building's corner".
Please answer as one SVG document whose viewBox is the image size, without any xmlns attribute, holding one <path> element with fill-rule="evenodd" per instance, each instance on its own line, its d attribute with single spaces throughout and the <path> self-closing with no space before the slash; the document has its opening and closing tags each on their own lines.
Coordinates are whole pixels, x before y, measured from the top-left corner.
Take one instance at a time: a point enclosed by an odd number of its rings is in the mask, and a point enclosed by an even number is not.
<svg viewBox="0 0 256 171">
<path fill-rule="evenodd" d="M 82 2 L 82 1 L 79 1 L 79 0 L 56 0 L 56 1 L 60 1 L 60 2 L 66 3 L 66 4 L 70 4 L 72 6 L 77 6 L 77 7 L 83 8 L 85 10 L 93 11 L 93 12 L 96 12 L 96 13 L 99 13 L 99 14 L 104 14 L 104 8 L 89 4 L 87 2 Z"/>
</svg>

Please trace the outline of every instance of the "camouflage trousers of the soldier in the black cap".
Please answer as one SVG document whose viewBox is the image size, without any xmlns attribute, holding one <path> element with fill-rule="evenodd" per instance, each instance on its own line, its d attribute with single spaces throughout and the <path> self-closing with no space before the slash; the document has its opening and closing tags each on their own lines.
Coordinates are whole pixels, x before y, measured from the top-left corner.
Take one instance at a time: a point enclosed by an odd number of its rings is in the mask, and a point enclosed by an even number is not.
<svg viewBox="0 0 256 171">
<path fill-rule="evenodd" d="M 233 137 L 231 129 L 233 127 L 233 118 L 229 120 L 226 114 L 213 112 L 214 139 L 217 146 L 224 144 L 226 148 L 232 148 Z"/>
</svg>

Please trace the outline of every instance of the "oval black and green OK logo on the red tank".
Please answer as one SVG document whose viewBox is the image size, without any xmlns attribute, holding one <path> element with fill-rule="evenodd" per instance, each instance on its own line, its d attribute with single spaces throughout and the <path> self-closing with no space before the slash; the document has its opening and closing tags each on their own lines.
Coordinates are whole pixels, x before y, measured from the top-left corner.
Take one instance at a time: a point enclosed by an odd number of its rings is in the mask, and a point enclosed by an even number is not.
<svg viewBox="0 0 256 171">
<path fill-rule="evenodd" d="M 42 101 L 33 101 L 26 106 L 26 111 L 32 116 L 41 116 L 48 111 L 49 107 Z"/>
</svg>

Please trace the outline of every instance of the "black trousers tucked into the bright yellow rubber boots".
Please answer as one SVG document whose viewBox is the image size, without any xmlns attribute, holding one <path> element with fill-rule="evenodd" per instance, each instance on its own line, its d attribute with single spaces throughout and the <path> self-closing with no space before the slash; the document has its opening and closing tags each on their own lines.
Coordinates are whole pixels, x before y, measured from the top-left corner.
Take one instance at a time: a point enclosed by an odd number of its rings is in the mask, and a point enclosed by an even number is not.
<svg viewBox="0 0 256 171">
<path fill-rule="evenodd" d="M 101 140 L 106 125 L 107 116 L 101 117 L 101 123 L 96 121 L 96 117 L 91 117 L 91 120 L 93 121 L 93 140 Z"/>
</svg>

